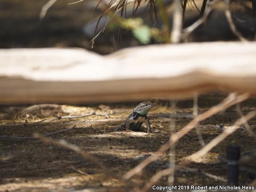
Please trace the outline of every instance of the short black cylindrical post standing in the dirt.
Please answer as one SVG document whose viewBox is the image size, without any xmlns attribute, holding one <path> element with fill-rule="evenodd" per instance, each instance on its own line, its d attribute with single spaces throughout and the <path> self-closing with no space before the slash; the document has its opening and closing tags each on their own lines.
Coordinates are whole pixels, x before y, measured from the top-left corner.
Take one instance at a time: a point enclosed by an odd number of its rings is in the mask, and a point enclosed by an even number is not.
<svg viewBox="0 0 256 192">
<path fill-rule="evenodd" d="M 227 149 L 228 158 L 228 184 L 238 185 L 240 148 L 237 145 L 229 145 Z"/>
</svg>

